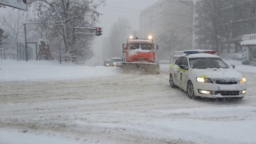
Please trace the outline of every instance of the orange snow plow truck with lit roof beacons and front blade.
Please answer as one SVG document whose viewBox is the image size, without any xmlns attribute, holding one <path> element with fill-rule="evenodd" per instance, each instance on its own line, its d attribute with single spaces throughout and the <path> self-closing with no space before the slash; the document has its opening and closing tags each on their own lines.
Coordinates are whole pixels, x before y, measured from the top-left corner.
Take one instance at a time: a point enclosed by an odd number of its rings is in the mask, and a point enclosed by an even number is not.
<svg viewBox="0 0 256 144">
<path fill-rule="evenodd" d="M 156 49 L 152 39 L 127 39 L 123 44 L 123 71 L 137 71 L 145 74 L 159 74 L 159 64 L 155 63 Z"/>
</svg>

